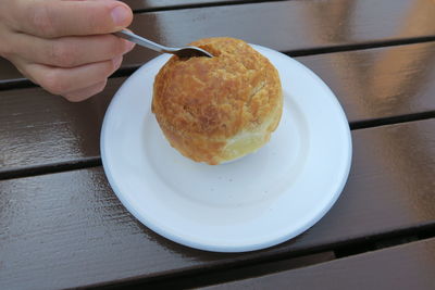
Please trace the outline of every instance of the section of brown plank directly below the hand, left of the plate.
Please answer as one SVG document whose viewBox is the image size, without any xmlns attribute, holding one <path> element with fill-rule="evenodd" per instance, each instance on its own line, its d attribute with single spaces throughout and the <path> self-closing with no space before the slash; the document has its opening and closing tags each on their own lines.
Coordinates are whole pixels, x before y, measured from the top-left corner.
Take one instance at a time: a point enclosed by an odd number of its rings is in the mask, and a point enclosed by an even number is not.
<svg viewBox="0 0 435 290">
<path fill-rule="evenodd" d="M 101 96 L 82 103 L 69 103 L 40 88 L 2 91 L 0 176 L 99 156 L 102 118 L 123 80 L 112 79 Z"/>
</svg>

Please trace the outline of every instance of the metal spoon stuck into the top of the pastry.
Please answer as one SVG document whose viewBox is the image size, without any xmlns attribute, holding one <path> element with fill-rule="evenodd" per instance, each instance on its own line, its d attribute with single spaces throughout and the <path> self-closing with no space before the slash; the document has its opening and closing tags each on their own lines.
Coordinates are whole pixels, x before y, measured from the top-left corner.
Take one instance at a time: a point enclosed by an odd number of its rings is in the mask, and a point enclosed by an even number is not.
<svg viewBox="0 0 435 290">
<path fill-rule="evenodd" d="M 159 52 L 166 52 L 178 55 L 179 58 L 191 58 L 191 56 L 209 56 L 212 58 L 213 55 L 210 52 L 207 52 L 203 49 L 196 48 L 196 47 L 183 47 L 183 48 L 169 48 L 161 46 L 159 43 L 152 42 L 144 37 L 135 35 L 132 31 L 126 29 L 122 29 L 120 31 L 113 33 L 115 36 L 127 39 L 132 42 L 135 42 L 139 46 L 159 51 Z"/>
</svg>

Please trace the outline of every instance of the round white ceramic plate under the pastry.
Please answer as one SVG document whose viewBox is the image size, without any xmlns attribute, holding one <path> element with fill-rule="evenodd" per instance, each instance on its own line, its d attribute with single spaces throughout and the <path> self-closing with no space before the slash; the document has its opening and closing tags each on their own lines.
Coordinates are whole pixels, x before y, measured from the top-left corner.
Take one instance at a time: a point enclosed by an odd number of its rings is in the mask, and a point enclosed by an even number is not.
<svg viewBox="0 0 435 290">
<path fill-rule="evenodd" d="M 170 240 L 216 252 L 272 247 L 315 224 L 345 186 L 351 139 L 334 93 L 297 61 L 253 47 L 284 88 L 279 126 L 254 154 L 210 166 L 171 148 L 150 105 L 169 55 L 134 73 L 105 113 L 101 156 L 110 185 L 136 218 Z"/>
</svg>

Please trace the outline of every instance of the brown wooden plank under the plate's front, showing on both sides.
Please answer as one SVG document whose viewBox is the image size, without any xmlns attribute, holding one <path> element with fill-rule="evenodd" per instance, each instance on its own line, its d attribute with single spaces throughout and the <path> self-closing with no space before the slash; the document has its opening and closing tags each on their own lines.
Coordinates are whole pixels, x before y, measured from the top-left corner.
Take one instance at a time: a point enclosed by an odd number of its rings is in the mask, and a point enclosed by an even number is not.
<svg viewBox="0 0 435 290">
<path fill-rule="evenodd" d="M 361 129 L 352 140 L 349 180 L 332 211 L 298 238 L 246 254 L 191 250 L 151 232 L 100 167 L 0 181 L 0 288 L 170 277 L 433 227 L 435 119 Z"/>
</svg>

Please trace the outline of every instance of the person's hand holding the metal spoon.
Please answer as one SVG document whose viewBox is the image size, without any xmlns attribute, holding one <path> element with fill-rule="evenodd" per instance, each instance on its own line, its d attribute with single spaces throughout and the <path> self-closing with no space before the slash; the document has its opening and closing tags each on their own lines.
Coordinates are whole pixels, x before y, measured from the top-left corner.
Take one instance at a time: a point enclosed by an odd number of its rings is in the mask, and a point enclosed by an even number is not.
<svg viewBox="0 0 435 290">
<path fill-rule="evenodd" d="M 114 0 L 1 0 L 0 55 L 70 101 L 100 92 L 132 42 L 111 33 L 133 12 Z"/>
</svg>

